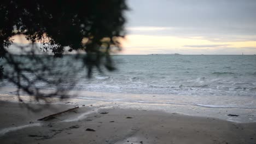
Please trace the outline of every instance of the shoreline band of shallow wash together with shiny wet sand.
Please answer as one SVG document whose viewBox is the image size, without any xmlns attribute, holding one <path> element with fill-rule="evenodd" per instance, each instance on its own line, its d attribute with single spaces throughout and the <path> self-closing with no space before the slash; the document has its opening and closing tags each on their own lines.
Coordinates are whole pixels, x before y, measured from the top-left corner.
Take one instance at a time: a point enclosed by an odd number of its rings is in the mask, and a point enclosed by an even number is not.
<svg viewBox="0 0 256 144">
<path fill-rule="evenodd" d="M 4 87 L 2 87 L 4 89 Z M 17 95 L 15 95 L 15 88 L 5 88 L 0 93 L 0 100 L 17 102 Z M 1 87 L 0 87 L 1 90 Z M 49 91 L 44 91 L 49 92 Z M 21 93 L 22 94 L 22 93 Z M 212 117 L 219 118 L 225 121 L 236 123 L 252 123 L 256 122 L 256 109 L 254 107 L 214 107 L 207 105 L 191 105 L 191 104 L 177 104 L 177 103 L 145 103 L 141 98 L 150 97 L 152 100 L 161 99 L 161 95 L 157 94 L 127 94 L 127 93 L 102 93 L 102 92 L 87 92 L 87 91 L 71 91 L 67 94 L 69 98 L 60 99 L 58 97 L 46 98 L 50 104 L 75 104 L 75 105 L 107 105 L 115 106 L 120 109 L 133 109 L 133 110 L 153 110 L 162 111 L 167 113 L 179 113 L 182 115 L 199 116 L 199 117 Z M 121 95 L 121 96 L 120 96 Z M 26 103 L 33 103 L 34 96 L 20 95 Z M 84 98 L 85 97 L 85 98 Z M 106 99 L 107 98 L 107 99 Z M 119 99 L 118 99 L 119 98 Z M 122 99 L 123 98 L 123 99 Z M 126 100 L 126 98 L 135 99 L 133 101 Z M 177 100 L 177 99 L 178 100 Z M 170 96 L 173 101 L 190 100 L 185 99 L 182 95 L 177 97 Z M 198 98 L 197 98 L 198 99 Z M 163 102 L 165 100 L 162 100 Z M 161 102 L 161 101 L 160 101 Z M 40 101 L 40 104 L 45 104 Z M 230 116 L 230 115 L 238 115 Z"/>
</svg>

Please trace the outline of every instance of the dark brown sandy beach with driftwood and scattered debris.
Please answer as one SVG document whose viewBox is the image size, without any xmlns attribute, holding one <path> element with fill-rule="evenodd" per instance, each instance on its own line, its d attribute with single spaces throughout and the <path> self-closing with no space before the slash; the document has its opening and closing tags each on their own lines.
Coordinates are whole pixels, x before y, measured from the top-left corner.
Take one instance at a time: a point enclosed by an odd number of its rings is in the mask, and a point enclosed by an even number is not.
<svg viewBox="0 0 256 144">
<path fill-rule="evenodd" d="M 40 111 L 0 101 L 1 143 L 256 143 L 256 123 L 104 105 L 30 106 Z M 75 106 L 79 108 L 37 121 Z"/>
</svg>

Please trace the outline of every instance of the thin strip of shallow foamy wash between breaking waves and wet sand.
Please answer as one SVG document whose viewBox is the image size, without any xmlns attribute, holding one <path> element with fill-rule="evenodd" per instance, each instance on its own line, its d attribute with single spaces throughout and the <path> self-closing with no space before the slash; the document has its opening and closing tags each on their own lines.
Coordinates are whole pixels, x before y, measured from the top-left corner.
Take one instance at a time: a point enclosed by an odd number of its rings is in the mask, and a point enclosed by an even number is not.
<svg viewBox="0 0 256 144">
<path fill-rule="evenodd" d="M 16 87 L 0 87 L 0 95 L 17 95 Z M 50 94 L 55 92 L 56 89 L 50 88 L 39 88 L 41 93 Z M 84 99 L 84 100 L 100 100 L 100 101 L 119 101 L 127 103 L 146 103 L 146 104 L 174 104 L 174 105 L 195 105 L 202 107 L 217 107 L 217 108 L 237 108 L 237 109 L 256 109 L 256 103 L 252 103 L 252 99 L 246 99 L 243 96 L 225 96 L 225 95 L 177 95 L 177 94 L 158 94 L 158 93 L 126 93 L 126 92 L 97 92 L 97 91 L 84 91 L 82 89 L 59 89 L 60 91 L 65 92 L 65 95 L 56 95 L 51 98 L 59 98 L 63 96 L 67 99 Z M 29 95 L 26 92 L 21 90 L 20 95 Z M 133 99 L 127 99 L 127 97 L 132 97 Z M 141 98 L 138 98 L 141 97 Z M 150 97 L 155 97 L 150 98 Z M 167 97 L 167 98 L 166 98 Z M 144 99 L 146 98 L 146 99 Z M 208 99 L 214 98 L 214 99 Z M 219 101 L 222 99 L 222 104 L 205 104 L 207 100 L 212 100 L 213 103 L 216 103 L 216 99 Z M 251 98 L 251 96 L 248 96 Z M 159 99 L 162 99 L 159 101 Z M 185 99 L 185 100 L 184 100 Z M 196 99 L 196 100 L 194 100 Z M 198 99 L 202 101 L 198 101 Z M 235 99 L 236 101 L 240 100 L 240 103 L 237 105 L 232 104 Z M 191 103 L 193 101 L 193 103 Z M 220 101 L 219 101 L 220 102 Z M 243 102 L 243 103 L 242 103 Z"/>
</svg>

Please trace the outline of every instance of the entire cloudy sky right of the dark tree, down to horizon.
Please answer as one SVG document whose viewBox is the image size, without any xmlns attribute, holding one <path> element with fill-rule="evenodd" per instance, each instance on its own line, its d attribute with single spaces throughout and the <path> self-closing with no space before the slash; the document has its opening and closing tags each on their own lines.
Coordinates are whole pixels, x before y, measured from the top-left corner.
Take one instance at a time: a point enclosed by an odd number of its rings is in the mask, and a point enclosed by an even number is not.
<svg viewBox="0 0 256 144">
<path fill-rule="evenodd" d="M 255 55 L 255 0 L 127 0 L 121 54 Z"/>
</svg>

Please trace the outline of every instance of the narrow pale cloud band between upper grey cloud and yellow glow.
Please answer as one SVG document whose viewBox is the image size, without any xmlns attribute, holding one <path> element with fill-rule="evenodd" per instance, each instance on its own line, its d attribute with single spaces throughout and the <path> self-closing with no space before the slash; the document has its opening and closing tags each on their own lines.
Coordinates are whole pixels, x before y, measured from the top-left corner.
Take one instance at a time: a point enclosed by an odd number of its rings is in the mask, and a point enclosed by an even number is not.
<svg viewBox="0 0 256 144">
<path fill-rule="evenodd" d="M 255 41 L 254 34 L 235 34 L 234 32 L 217 33 L 218 29 L 211 28 L 189 28 L 189 27 L 127 27 L 127 34 L 133 35 L 154 35 L 154 36 L 172 36 L 189 39 L 206 39 L 215 42 L 229 41 Z M 230 30 L 235 31 L 235 30 Z M 224 32 L 224 31 L 223 31 Z"/>
</svg>

